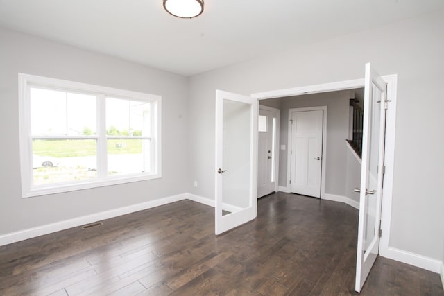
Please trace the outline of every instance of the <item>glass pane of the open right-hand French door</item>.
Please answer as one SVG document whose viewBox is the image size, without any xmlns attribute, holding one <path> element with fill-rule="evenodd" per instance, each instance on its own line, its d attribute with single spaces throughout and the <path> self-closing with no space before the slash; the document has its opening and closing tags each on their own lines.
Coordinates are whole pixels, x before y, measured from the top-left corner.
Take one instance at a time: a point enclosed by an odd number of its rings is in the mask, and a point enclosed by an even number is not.
<svg viewBox="0 0 444 296">
<path fill-rule="evenodd" d="M 370 150 L 368 158 L 368 190 L 377 190 L 378 180 L 378 162 L 379 162 L 379 120 L 380 120 L 380 104 L 381 90 L 372 85 L 373 96 L 370 98 Z M 375 235 L 377 235 L 377 193 L 366 196 L 366 227 L 364 228 L 364 250 L 367 250 L 372 243 Z"/>
</svg>

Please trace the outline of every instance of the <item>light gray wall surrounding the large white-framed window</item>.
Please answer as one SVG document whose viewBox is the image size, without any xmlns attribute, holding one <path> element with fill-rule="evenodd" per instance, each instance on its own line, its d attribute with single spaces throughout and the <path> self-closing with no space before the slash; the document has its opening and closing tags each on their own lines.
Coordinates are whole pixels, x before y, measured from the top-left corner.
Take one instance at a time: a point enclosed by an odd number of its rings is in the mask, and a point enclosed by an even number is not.
<svg viewBox="0 0 444 296">
<path fill-rule="evenodd" d="M 162 179 L 21 197 L 17 73 L 162 96 Z M 0 29 L 0 235 L 186 191 L 187 80 L 105 55 Z"/>
</svg>

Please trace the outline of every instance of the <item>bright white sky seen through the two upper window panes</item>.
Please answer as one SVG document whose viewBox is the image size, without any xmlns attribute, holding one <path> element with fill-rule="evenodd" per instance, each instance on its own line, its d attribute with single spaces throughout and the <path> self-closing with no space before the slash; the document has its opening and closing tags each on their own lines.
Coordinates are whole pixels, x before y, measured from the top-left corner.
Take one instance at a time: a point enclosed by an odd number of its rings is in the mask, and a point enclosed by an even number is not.
<svg viewBox="0 0 444 296">
<path fill-rule="evenodd" d="M 33 135 L 77 136 L 97 133 L 96 96 L 31 87 Z M 113 135 L 149 135 L 150 103 L 106 98 L 106 129 Z"/>
</svg>

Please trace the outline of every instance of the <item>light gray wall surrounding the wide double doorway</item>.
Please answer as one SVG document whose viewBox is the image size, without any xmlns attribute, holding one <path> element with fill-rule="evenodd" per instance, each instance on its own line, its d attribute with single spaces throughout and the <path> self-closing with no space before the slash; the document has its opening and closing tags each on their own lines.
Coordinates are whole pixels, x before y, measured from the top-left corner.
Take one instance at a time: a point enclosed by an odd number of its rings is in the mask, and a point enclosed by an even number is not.
<svg viewBox="0 0 444 296">
<path fill-rule="evenodd" d="M 214 198 L 216 89 L 250 95 L 363 78 L 372 62 L 381 74 L 398 73 L 390 245 L 442 260 L 443 36 L 438 11 L 189 78 L 189 192 Z"/>
</svg>

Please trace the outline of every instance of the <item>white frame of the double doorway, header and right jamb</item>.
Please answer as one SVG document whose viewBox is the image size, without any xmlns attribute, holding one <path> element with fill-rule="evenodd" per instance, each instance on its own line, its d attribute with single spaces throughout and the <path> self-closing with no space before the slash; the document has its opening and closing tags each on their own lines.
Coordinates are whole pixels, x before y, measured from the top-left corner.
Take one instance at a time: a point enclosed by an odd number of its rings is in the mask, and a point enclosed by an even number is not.
<svg viewBox="0 0 444 296">
<path fill-rule="evenodd" d="M 391 229 L 391 206 L 393 195 L 393 168 L 395 161 L 395 125 L 396 125 L 396 101 L 398 96 L 398 75 L 382 76 L 387 83 L 388 109 L 386 113 L 386 147 L 384 150 L 386 172 L 384 174 L 384 188 L 382 190 L 381 230 L 382 236 L 379 241 L 379 255 L 387 258 L 398 258 L 396 250 L 390 243 Z M 267 98 L 283 98 L 286 96 L 300 96 L 303 94 L 336 92 L 346 89 L 357 89 L 364 87 L 364 78 L 355 80 L 343 80 L 319 85 L 307 85 L 302 87 L 291 87 L 287 89 L 276 89 L 269 92 L 258 92 L 251 94 L 253 98 L 265 100 Z"/>
</svg>

